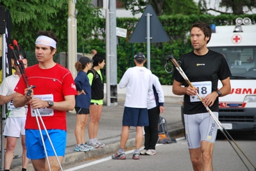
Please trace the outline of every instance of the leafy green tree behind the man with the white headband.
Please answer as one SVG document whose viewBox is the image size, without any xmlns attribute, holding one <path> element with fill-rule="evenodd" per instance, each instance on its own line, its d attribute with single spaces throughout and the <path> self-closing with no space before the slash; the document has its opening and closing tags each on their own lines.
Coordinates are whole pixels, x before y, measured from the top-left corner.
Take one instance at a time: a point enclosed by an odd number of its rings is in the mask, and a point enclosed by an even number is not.
<svg viewBox="0 0 256 171">
<path fill-rule="evenodd" d="M 37 31 L 49 29 L 58 37 L 58 51 L 67 51 L 68 3 L 69 0 L 44 0 L 43 3 L 40 0 L 0 0 L 0 5 L 9 9 L 12 16 L 11 38 L 16 39 L 25 51 L 35 49 Z M 81 42 L 81 35 L 90 37 L 92 30 L 97 28 L 100 14 L 91 0 L 78 1 L 76 9 L 78 42 Z"/>
</svg>

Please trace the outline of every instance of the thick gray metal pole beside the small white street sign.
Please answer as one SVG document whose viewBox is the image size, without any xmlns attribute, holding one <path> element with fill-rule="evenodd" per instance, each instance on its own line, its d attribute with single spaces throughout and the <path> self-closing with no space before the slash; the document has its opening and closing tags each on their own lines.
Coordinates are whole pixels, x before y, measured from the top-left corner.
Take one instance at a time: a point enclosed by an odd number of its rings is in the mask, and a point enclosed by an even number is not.
<svg viewBox="0 0 256 171">
<path fill-rule="evenodd" d="M 116 17 L 115 0 L 110 0 L 110 94 L 108 106 L 117 105 L 117 36 L 116 36 Z"/>
</svg>

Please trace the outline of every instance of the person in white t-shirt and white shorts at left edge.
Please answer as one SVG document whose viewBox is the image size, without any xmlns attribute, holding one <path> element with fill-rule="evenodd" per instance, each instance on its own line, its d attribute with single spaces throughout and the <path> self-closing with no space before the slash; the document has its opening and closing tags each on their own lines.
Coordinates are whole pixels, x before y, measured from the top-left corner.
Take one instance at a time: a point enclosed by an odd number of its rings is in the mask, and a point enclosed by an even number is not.
<svg viewBox="0 0 256 171">
<path fill-rule="evenodd" d="M 24 67 L 28 65 L 28 60 L 23 59 Z M 0 86 L 0 104 L 7 103 L 7 120 L 4 127 L 3 135 L 7 139 L 7 148 L 4 154 L 4 170 L 10 170 L 13 152 L 17 144 L 17 138 L 21 136 L 22 144 L 22 171 L 25 171 L 28 167 L 29 159 L 26 157 L 26 144 L 25 144 L 25 121 L 27 108 L 26 106 L 21 108 L 15 108 L 13 106 L 13 97 L 15 97 L 16 92 L 14 91 L 15 86 L 17 85 L 21 72 L 19 67 L 15 65 L 16 71 L 11 76 L 6 77 L 3 80 L 2 85 Z"/>
</svg>

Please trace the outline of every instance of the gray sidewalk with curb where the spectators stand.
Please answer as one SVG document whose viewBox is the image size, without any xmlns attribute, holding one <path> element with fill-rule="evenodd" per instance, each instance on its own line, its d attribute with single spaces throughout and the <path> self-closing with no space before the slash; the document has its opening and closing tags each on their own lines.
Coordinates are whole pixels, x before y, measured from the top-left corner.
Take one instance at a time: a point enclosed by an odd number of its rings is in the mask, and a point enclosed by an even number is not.
<svg viewBox="0 0 256 171">
<path fill-rule="evenodd" d="M 74 127 L 76 125 L 76 114 L 67 113 L 67 148 L 63 165 L 70 165 L 76 161 L 81 161 L 86 158 L 95 156 L 102 156 L 104 154 L 111 154 L 119 148 L 119 141 L 121 136 L 122 118 L 124 110 L 124 95 L 118 95 L 117 106 L 103 106 L 103 113 L 99 121 L 98 140 L 105 143 L 105 147 L 94 149 L 89 152 L 74 152 L 76 139 L 74 136 Z M 161 116 L 166 118 L 169 135 L 171 137 L 183 133 L 182 118 L 180 117 L 180 104 L 182 97 L 165 97 L 164 113 Z M 87 124 L 88 126 L 88 124 Z M 87 128 L 86 128 L 87 129 Z M 130 127 L 130 137 L 126 143 L 126 147 L 133 147 L 135 145 L 135 127 Z M 85 140 L 88 141 L 88 131 L 85 131 Z M 15 154 L 21 156 L 21 142 L 17 141 Z M 21 158 L 13 159 L 12 171 L 21 170 Z M 31 163 L 28 166 L 28 171 L 33 170 Z"/>
</svg>

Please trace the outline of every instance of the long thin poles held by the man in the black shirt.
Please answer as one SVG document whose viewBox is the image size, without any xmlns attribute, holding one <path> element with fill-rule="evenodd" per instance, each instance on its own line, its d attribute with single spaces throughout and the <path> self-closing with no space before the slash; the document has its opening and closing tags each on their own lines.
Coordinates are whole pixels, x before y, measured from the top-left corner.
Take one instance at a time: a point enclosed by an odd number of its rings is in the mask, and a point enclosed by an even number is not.
<svg viewBox="0 0 256 171">
<path fill-rule="evenodd" d="M 194 88 L 194 86 L 192 85 L 192 83 L 189 81 L 189 78 L 185 75 L 185 73 L 183 72 L 182 68 L 180 67 L 180 65 L 178 64 L 178 62 L 176 61 L 176 59 L 173 57 L 173 55 L 169 55 L 168 56 L 168 60 L 171 60 L 171 62 L 173 63 L 173 65 L 175 65 L 176 69 L 178 70 L 178 72 L 182 75 L 183 79 L 185 79 L 185 81 L 187 82 L 187 84 L 189 86 L 191 86 L 192 88 Z M 167 61 L 168 61 L 167 60 Z M 195 89 L 195 88 L 194 88 Z M 203 103 L 203 105 L 205 106 L 203 99 L 200 97 L 200 95 L 198 94 L 198 92 L 196 91 L 196 95 L 198 96 L 198 98 L 200 99 L 200 101 Z M 228 133 L 228 131 L 226 131 L 225 127 L 222 126 L 221 122 L 219 122 L 218 118 L 216 118 L 216 116 L 214 115 L 214 113 L 212 113 L 212 111 L 210 110 L 210 108 L 208 106 L 205 106 L 206 110 L 210 113 L 211 117 L 214 119 L 214 121 L 216 122 L 216 124 L 218 125 L 219 129 L 221 130 L 221 133 L 223 133 L 226 137 L 226 139 L 228 140 L 228 142 L 230 143 L 230 145 L 233 147 L 234 151 L 237 153 L 237 156 L 239 156 L 239 158 L 241 159 L 241 161 L 244 160 L 241 158 L 241 156 L 239 155 L 239 153 L 237 152 L 237 150 L 235 149 L 234 145 L 230 142 L 230 139 L 228 138 L 228 136 L 230 136 L 230 134 Z M 228 134 L 228 136 L 225 134 L 225 132 Z M 237 145 L 237 143 L 235 142 L 235 140 L 232 138 L 232 136 L 230 136 L 231 140 L 235 143 L 235 145 L 237 146 L 237 148 L 242 152 L 242 154 L 244 155 L 244 157 L 249 161 L 249 163 L 252 165 L 252 167 L 255 169 L 255 166 L 253 165 L 253 163 L 250 161 L 250 159 L 248 159 L 248 157 L 244 154 L 244 152 L 241 150 L 241 148 Z M 247 167 L 246 163 L 244 163 L 244 166 L 250 171 L 250 169 Z"/>
</svg>

